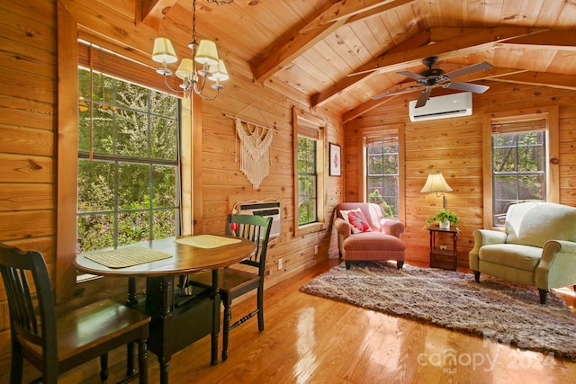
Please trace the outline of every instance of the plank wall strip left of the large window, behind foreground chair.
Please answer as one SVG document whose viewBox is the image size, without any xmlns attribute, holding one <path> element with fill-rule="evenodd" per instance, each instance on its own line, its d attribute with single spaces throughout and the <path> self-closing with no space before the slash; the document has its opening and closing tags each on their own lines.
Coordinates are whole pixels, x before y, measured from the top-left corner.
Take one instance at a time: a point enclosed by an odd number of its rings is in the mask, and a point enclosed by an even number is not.
<svg viewBox="0 0 576 384">
<path fill-rule="evenodd" d="M 0 242 L 40 250 L 53 275 L 56 6 L 33 3 L 0 2 Z M 0 382 L 10 371 L 9 326 L 0 283 Z"/>
</svg>

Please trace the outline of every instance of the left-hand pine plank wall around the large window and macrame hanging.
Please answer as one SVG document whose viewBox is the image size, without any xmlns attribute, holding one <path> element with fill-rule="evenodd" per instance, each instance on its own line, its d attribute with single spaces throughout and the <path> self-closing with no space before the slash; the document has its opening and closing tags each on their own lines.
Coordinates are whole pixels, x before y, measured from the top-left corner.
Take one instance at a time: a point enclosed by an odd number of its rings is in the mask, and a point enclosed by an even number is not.
<svg viewBox="0 0 576 384">
<path fill-rule="evenodd" d="M 67 2 L 70 12 L 83 9 L 80 2 Z M 76 20 L 92 25 L 87 29 L 101 31 L 113 25 L 114 31 L 134 31 L 133 20 L 125 15 L 114 18 L 112 9 L 102 2 L 90 3 L 94 12 L 84 13 Z M 112 4 L 116 2 L 108 2 Z M 0 2 L 0 242 L 38 249 L 49 263 L 54 279 L 56 250 L 56 175 L 57 175 L 57 0 L 29 0 L 27 2 Z M 97 11 L 97 12 L 96 12 Z M 112 20 L 106 20 L 111 18 Z M 108 24 L 107 24 L 108 22 Z M 141 33 L 130 33 L 126 40 L 148 40 L 149 47 L 136 47 L 149 51 L 156 36 L 148 36 L 150 29 L 141 25 Z M 138 36 L 138 39 L 134 39 Z M 118 36 L 115 37 L 118 39 Z M 311 266 L 321 259 L 336 254 L 335 238 L 328 229 L 305 237 L 293 237 L 293 107 L 304 108 L 305 100 L 270 91 L 254 83 L 248 63 L 238 58 L 224 60 L 230 81 L 222 95 L 214 102 L 202 103 L 202 150 L 193 154 L 195 191 L 194 219 L 198 223 L 195 233 L 220 233 L 236 201 L 275 198 L 282 203 L 281 235 L 272 242 L 268 252 L 266 284 L 273 285 L 293 273 Z M 157 76 L 153 70 L 151 76 Z M 275 126 L 271 147 L 271 172 L 259 190 L 254 191 L 236 162 L 238 142 L 233 121 L 224 115 L 243 113 L 255 121 L 266 120 Z M 329 142 L 343 145 L 344 132 L 341 118 L 327 111 L 315 111 L 321 120 L 329 121 Z M 262 117 L 264 116 L 264 117 Z M 265 122 L 265 121 L 262 121 Z M 201 153 L 199 153 L 201 152 Z M 344 178 L 327 180 L 327 220 L 331 211 L 342 200 Z M 72 226 L 74 223 L 72 223 Z M 73 228 L 73 227 L 72 227 Z M 318 246 L 319 253 L 314 249 Z M 283 258 L 284 268 L 278 271 L 277 260 Z M 54 282 L 54 281 L 53 281 Z M 110 286 L 125 287 L 125 282 Z M 106 290 L 110 292 L 112 288 Z M 71 294 L 85 295 L 94 289 L 79 289 Z M 4 284 L 0 283 L 0 382 L 7 381 L 10 367 L 10 330 Z M 33 370 L 27 370 L 26 375 Z M 24 378 L 31 380 L 32 378 Z"/>
</svg>

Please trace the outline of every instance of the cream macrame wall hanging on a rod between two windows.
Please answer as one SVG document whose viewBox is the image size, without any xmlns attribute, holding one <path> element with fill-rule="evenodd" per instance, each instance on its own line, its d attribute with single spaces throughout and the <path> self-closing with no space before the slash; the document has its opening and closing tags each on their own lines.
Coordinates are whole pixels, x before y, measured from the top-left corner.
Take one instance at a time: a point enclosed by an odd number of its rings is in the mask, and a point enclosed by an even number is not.
<svg viewBox="0 0 576 384">
<path fill-rule="evenodd" d="M 247 110 L 252 104 L 233 117 L 236 125 L 236 135 L 240 139 L 240 171 L 252 183 L 253 189 L 258 189 L 262 181 L 270 173 L 270 145 L 275 129 L 240 119 L 238 115 Z M 257 108 L 264 121 L 264 114 Z M 228 117 L 228 116 L 227 116 Z M 267 122 L 266 122 L 266 125 Z M 236 161 L 238 162 L 238 156 Z"/>
</svg>

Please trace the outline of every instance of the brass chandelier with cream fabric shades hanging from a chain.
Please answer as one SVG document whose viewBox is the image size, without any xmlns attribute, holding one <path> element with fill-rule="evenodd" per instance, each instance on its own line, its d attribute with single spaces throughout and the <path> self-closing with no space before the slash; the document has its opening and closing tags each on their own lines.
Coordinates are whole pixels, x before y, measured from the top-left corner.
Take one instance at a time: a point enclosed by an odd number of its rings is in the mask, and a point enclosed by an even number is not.
<svg viewBox="0 0 576 384">
<path fill-rule="evenodd" d="M 208 0 L 209 3 L 218 5 L 231 4 L 234 0 Z M 192 58 L 183 58 L 176 69 L 175 76 L 182 80 L 178 86 L 180 90 L 174 89 L 168 84 L 167 76 L 172 76 L 172 71 L 167 65 L 178 61 L 172 41 L 166 37 L 158 37 L 154 40 L 152 59 L 161 63 L 162 67 L 156 71 L 164 77 L 164 83 L 170 91 L 184 94 L 189 97 L 191 91 L 198 94 L 204 100 L 214 100 L 220 90 L 224 88 L 220 82 L 228 80 L 228 71 L 224 62 L 218 58 L 216 43 L 211 40 L 200 40 L 196 36 L 196 0 L 192 3 L 192 42 L 188 44 L 192 50 Z M 211 83 L 210 87 L 214 91 L 211 96 L 204 94 L 205 86 Z"/>
</svg>

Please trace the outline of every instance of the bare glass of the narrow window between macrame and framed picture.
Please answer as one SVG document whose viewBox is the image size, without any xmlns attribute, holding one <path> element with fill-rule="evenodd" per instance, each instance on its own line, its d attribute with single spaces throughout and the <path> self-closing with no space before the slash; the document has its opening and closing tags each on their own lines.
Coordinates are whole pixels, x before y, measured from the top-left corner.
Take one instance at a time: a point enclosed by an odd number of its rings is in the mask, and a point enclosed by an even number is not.
<svg viewBox="0 0 576 384">
<path fill-rule="evenodd" d="M 316 208 L 316 140 L 298 138 L 298 224 L 318 221 Z"/>
</svg>

